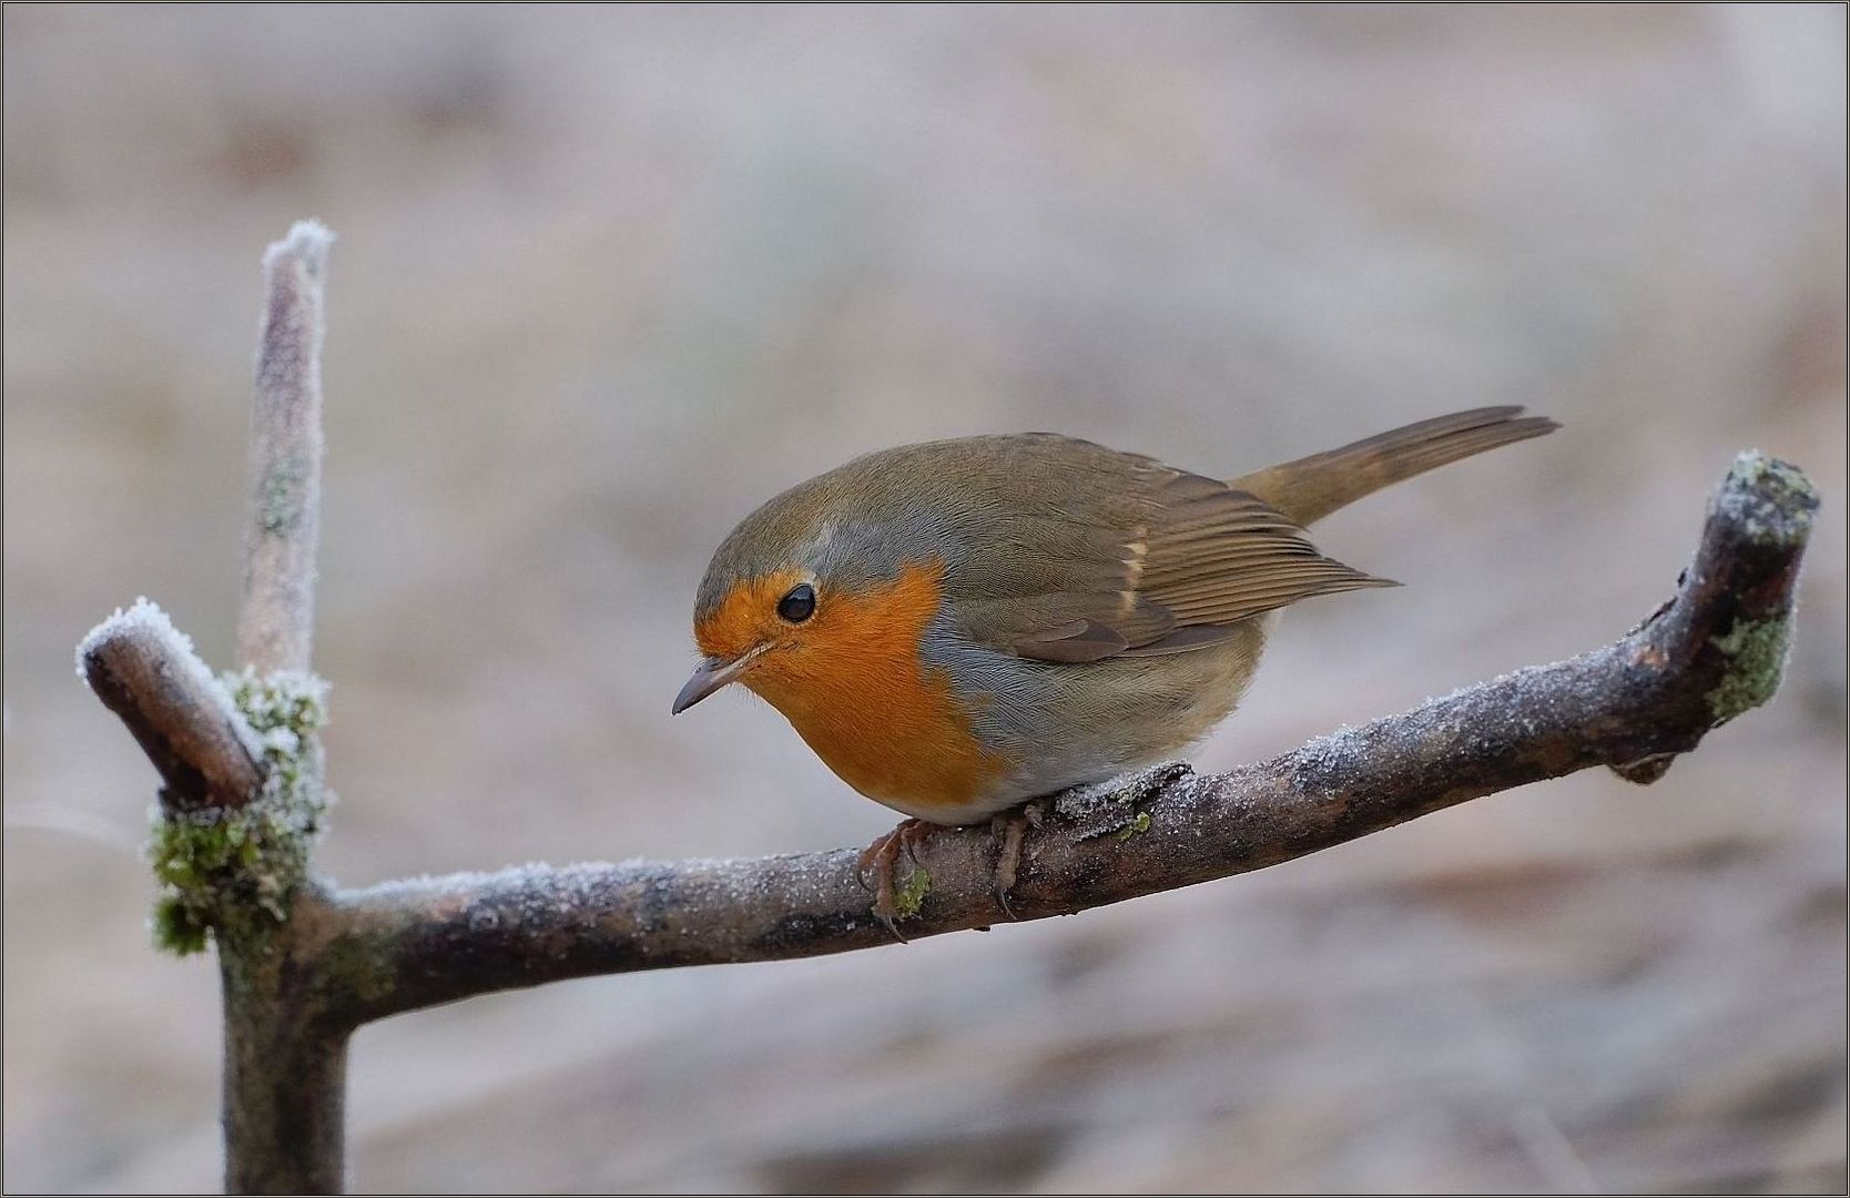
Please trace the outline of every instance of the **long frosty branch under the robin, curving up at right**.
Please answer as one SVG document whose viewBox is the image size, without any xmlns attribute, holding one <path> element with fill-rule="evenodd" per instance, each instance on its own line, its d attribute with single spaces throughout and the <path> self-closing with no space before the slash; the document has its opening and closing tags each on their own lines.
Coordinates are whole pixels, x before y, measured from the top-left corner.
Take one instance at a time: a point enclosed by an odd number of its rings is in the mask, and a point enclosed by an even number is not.
<svg viewBox="0 0 1850 1198">
<path fill-rule="evenodd" d="M 1709 505 L 1676 598 L 1617 644 L 1432 700 L 1227 774 L 1164 765 L 1067 792 L 1029 833 L 1012 904 L 1069 915 L 1240 874 L 1506 791 L 1608 765 L 1663 776 L 1780 681 L 1817 493 L 1743 454 Z M 1006 918 L 986 830 L 934 833 L 901 889 L 912 937 Z M 857 854 L 529 867 L 333 896 L 300 948 L 318 1005 L 359 1024 L 488 991 L 892 942 Z"/>
</svg>

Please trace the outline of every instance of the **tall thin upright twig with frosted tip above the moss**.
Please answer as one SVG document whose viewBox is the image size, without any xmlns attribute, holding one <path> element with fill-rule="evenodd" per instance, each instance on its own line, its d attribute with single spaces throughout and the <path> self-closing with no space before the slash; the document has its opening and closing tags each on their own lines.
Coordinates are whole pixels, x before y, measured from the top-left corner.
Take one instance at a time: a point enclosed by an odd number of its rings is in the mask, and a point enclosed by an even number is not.
<svg viewBox="0 0 1850 1198">
<path fill-rule="evenodd" d="M 322 509 L 322 283 L 329 233 L 302 220 L 263 256 L 265 311 L 252 411 L 252 526 L 239 661 L 307 670 Z"/>
</svg>

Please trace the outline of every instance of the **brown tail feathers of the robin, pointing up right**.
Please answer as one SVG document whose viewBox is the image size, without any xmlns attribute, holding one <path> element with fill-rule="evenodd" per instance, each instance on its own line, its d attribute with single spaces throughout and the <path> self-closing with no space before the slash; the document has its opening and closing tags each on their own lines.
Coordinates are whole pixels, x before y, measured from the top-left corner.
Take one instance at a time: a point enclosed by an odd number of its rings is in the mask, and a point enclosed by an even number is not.
<svg viewBox="0 0 1850 1198">
<path fill-rule="evenodd" d="M 1547 417 L 1524 417 L 1521 407 L 1474 407 L 1254 470 L 1228 485 L 1310 524 L 1389 483 L 1558 428 Z"/>
</svg>

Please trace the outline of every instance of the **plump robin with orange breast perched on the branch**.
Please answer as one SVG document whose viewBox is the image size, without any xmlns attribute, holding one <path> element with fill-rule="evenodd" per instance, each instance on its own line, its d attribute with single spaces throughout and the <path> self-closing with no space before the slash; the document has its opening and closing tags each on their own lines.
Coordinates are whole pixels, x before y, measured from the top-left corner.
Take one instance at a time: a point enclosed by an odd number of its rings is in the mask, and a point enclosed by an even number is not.
<svg viewBox="0 0 1850 1198">
<path fill-rule="evenodd" d="M 862 855 L 894 928 L 894 865 L 912 839 L 1204 737 L 1252 680 L 1273 613 L 1395 585 L 1325 557 L 1304 530 L 1558 428 L 1521 413 L 1437 417 L 1230 481 L 1054 433 L 857 457 L 720 544 L 694 602 L 705 659 L 673 711 L 744 683 L 842 781 L 908 815 Z M 1019 822 L 1008 842 L 1005 909 Z"/>
</svg>

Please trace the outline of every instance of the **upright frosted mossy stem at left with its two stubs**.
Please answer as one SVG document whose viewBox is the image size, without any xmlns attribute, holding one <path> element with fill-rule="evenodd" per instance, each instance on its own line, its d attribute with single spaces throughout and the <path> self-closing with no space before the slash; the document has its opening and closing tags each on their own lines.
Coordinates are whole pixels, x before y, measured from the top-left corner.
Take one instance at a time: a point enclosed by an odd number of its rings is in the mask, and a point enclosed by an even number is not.
<svg viewBox="0 0 1850 1198">
<path fill-rule="evenodd" d="M 290 920 L 316 909 L 322 685 L 309 670 L 322 472 L 322 283 L 333 235 L 296 224 L 263 257 L 250 537 L 239 659 L 215 680 L 146 600 L 100 624 L 78 672 L 165 781 L 148 842 L 155 941 L 218 948 L 226 1189 L 333 1192 L 344 1181 L 346 1031 L 314 1018 L 289 968 Z M 226 685 L 229 681 L 229 685 Z"/>
</svg>

